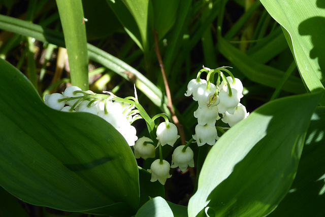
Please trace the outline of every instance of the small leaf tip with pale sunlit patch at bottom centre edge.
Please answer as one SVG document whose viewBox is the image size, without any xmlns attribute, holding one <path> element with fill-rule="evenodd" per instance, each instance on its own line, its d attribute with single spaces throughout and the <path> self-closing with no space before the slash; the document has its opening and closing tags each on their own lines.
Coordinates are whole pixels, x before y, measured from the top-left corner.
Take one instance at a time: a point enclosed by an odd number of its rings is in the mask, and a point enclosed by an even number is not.
<svg viewBox="0 0 325 217">
<path fill-rule="evenodd" d="M 136 217 L 186 217 L 185 206 L 176 205 L 162 197 L 155 197 L 145 203 L 137 212 Z"/>
</svg>

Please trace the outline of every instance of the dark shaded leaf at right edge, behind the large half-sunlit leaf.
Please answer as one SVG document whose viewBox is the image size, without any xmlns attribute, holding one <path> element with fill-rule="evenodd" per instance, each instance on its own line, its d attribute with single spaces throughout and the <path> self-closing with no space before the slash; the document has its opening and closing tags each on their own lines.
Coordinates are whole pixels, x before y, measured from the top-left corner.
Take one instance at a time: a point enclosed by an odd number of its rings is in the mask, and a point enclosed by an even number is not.
<svg viewBox="0 0 325 217">
<path fill-rule="evenodd" d="M 289 193 L 269 216 L 325 215 L 325 107 L 311 117 L 296 178 Z"/>
</svg>

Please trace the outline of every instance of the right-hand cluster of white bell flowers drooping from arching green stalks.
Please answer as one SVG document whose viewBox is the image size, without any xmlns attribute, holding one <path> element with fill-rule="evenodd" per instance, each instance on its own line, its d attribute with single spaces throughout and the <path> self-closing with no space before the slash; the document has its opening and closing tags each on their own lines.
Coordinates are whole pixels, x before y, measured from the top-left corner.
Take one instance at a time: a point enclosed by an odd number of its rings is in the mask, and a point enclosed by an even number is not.
<svg viewBox="0 0 325 217">
<path fill-rule="evenodd" d="M 225 77 L 221 70 L 228 72 L 231 76 Z M 202 71 L 208 73 L 207 80 L 200 79 Z M 209 78 L 218 73 L 216 85 L 210 82 Z M 220 78 L 222 82 L 220 83 Z M 198 101 L 198 109 L 194 112 L 194 117 L 198 119 L 193 139 L 198 146 L 208 143 L 212 146 L 219 138 L 216 129 L 216 121 L 222 121 L 234 126 L 239 121 L 245 119 L 249 113 L 246 107 L 240 103 L 243 97 L 242 82 L 234 78 L 228 69 L 219 67 L 211 70 L 204 67 L 200 70 L 197 79 L 192 79 L 187 85 L 185 96 L 193 96 L 193 100 Z"/>
</svg>

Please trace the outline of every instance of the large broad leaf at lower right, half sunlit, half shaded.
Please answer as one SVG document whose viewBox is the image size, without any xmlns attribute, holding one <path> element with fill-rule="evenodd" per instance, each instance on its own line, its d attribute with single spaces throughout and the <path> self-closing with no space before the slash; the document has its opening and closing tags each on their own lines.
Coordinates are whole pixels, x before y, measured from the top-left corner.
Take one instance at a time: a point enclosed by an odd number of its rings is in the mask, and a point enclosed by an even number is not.
<svg viewBox="0 0 325 217">
<path fill-rule="evenodd" d="M 287 194 L 321 94 L 271 101 L 222 135 L 202 167 L 189 216 L 264 216 Z"/>
</svg>

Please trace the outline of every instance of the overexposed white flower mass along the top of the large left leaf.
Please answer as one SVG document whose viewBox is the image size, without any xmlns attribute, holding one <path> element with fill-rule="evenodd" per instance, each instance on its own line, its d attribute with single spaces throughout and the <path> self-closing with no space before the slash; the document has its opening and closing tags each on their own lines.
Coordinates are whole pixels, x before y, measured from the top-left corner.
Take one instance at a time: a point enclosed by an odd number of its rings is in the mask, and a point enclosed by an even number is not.
<svg viewBox="0 0 325 217">
<path fill-rule="evenodd" d="M 79 87 L 67 87 L 62 94 L 45 95 L 45 104 L 63 112 L 87 112 L 98 115 L 119 131 L 129 146 L 134 146 L 138 139 L 137 130 L 131 125 L 134 121 L 134 106 L 110 97 L 98 98 L 92 91 L 82 91 Z M 112 98 L 112 97 L 111 97 Z M 65 106 L 66 105 L 66 106 Z"/>
</svg>

